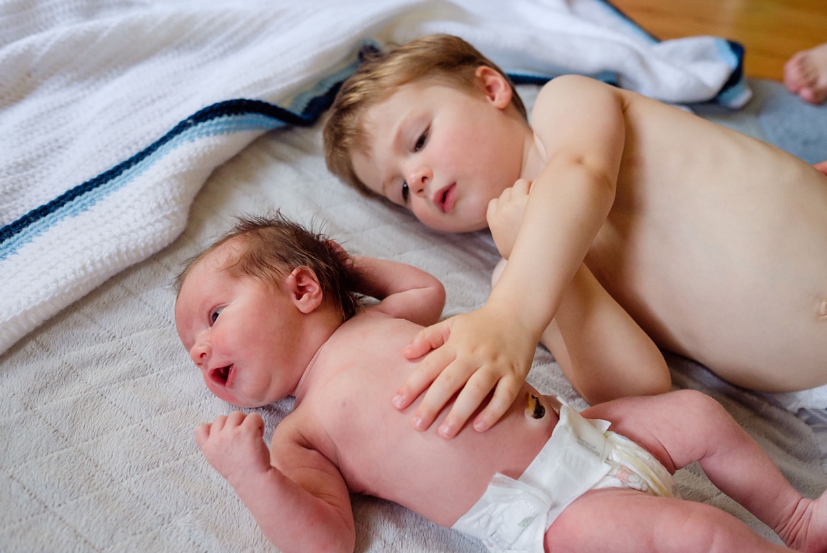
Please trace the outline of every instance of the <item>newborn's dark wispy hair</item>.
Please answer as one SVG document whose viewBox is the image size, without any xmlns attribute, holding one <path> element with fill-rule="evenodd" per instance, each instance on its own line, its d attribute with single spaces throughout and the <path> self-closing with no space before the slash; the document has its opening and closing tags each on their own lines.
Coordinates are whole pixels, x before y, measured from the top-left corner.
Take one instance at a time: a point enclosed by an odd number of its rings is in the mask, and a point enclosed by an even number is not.
<svg viewBox="0 0 827 553">
<path fill-rule="evenodd" d="M 361 309 L 357 276 L 347 253 L 323 234 L 294 223 L 280 211 L 237 217 L 227 233 L 184 262 L 184 270 L 173 283 L 176 294 L 193 267 L 229 242 L 241 246 L 232 248 L 222 267 L 233 276 L 252 276 L 277 286 L 296 267 L 308 267 L 318 278 L 325 301 L 331 301 L 342 313 L 342 321 Z"/>
</svg>

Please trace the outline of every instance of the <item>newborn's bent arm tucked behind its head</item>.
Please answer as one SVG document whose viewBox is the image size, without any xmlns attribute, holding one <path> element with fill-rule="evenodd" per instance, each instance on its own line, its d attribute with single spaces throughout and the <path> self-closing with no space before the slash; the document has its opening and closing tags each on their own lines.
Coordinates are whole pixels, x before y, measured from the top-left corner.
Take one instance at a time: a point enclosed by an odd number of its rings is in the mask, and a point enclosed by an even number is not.
<svg viewBox="0 0 827 553">
<path fill-rule="evenodd" d="M 373 309 L 423 326 L 439 320 L 445 306 L 445 288 L 435 276 L 387 259 L 352 256 L 351 260 L 358 275 L 359 293 L 380 301 Z"/>
</svg>

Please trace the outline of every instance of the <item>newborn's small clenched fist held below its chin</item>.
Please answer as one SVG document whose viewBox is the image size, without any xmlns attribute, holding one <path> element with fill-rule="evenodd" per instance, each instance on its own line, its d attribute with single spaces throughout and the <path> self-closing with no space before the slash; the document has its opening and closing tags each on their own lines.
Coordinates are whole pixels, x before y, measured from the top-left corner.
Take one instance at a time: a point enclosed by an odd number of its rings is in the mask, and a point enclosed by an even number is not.
<svg viewBox="0 0 827 553">
<path fill-rule="evenodd" d="M 234 411 L 217 416 L 213 423 L 195 429 L 195 440 L 204 456 L 227 481 L 236 487 L 241 478 L 270 469 L 270 450 L 264 442 L 261 415 Z"/>
</svg>

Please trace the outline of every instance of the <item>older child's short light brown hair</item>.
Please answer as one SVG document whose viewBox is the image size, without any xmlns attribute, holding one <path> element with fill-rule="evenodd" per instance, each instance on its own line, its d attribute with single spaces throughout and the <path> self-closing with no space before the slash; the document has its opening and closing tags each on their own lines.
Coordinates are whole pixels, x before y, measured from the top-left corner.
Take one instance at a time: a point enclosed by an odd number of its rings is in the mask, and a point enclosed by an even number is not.
<svg viewBox="0 0 827 553">
<path fill-rule="evenodd" d="M 388 99 L 399 87 L 420 79 L 433 79 L 462 90 L 477 87 L 476 69 L 485 65 L 502 75 L 512 89 L 511 102 L 528 120 L 523 100 L 503 70 L 458 36 L 428 35 L 386 52 L 371 50 L 339 89 L 324 125 L 327 169 L 363 195 L 375 196 L 353 171 L 351 153 L 365 151 L 367 137 L 362 116 Z"/>
</svg>

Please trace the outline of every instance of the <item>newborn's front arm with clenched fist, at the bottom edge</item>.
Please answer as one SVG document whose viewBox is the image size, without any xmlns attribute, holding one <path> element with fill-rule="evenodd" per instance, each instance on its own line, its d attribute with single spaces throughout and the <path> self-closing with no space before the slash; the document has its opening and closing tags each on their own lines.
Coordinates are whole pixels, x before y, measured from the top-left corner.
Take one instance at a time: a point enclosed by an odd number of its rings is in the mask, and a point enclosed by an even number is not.
<svg viewBox="0 0 827 553">
<path fill-rule="evenodd" d="M 195 430 L 198 445 L 280 551 L 347 551 L 356 531 L 347 485 L 316 450 L 274 435 L 273 460 L 258 413 L 235 411 Z M 275 464 L 279 465 L 276 468 Z"/>
</svg>

